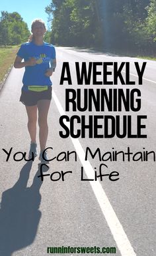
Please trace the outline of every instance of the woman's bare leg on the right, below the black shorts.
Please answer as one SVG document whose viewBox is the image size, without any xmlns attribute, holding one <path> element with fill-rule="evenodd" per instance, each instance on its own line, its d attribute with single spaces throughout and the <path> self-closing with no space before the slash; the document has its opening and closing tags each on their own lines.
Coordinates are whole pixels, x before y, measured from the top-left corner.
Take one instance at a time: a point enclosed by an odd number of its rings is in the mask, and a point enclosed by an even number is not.
<svg viewBox="0 0 156 256">
<path fill-rule="evenodd" d="M 39 138 L 40 138 L 40 150 L 46 148 L 46 141 L 48 138 L 48 110 L 50 108 L 51 100 L 39 100 L 38 101 L 38 126 L 40 128 Z"/>
</svg>

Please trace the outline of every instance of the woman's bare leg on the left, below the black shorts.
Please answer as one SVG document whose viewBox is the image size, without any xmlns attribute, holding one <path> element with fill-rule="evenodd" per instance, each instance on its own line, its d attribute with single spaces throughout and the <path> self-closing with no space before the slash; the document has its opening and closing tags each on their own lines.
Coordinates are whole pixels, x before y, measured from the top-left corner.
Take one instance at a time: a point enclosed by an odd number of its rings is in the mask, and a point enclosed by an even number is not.
<svg viewBox="0 0 156 256">
<path fill-rule="evenodd" d="M 26 106 L 28 115 L 28 132 L 30 134 L 31 142 L 36 143 L 36 122 L 37 122 L 37 105 Z"/>
</svg>

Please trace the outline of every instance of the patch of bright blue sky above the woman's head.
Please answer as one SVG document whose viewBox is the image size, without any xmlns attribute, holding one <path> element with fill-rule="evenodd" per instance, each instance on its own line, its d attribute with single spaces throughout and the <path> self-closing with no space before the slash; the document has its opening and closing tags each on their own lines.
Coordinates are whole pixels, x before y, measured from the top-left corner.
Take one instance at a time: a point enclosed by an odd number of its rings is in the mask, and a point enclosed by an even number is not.
<svg viewBox="0 0 156 256">
<path fill-rule="evenodd" d="M 23 21 L 28 24 L 28 29 L 31 28 L 31 23 L 34 19 L 43 19 L 48 28 L 48 14 L 45 12 L 47 5 L 51 0 L 0 0 L 0 11 L 8 11 L 13 13 L 17 11 Z"/>
</svg>

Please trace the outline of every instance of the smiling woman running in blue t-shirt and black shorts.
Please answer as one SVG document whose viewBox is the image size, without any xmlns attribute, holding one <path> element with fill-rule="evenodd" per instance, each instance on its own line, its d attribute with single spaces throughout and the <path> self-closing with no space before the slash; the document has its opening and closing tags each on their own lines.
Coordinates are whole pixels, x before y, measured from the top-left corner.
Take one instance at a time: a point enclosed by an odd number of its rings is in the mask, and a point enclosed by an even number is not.
<svg viewBox="0 0 156 256">
<path fill-rule="evenodd" d="M 46 141 L 48 138 L 48 110 L 52 99 L 52 81 L 50 76 L 56 68 L 56 51 L 53 45 L 44 42 L 46 26 L 44 21 L 36 19 L 32 22 L 32 35 L 28 43 L 21 45 L 15 59 L 15 68 L 25 67 L 22 78 L 22 93 L 20 102 L 26 107 L 28 115 L 28 132 L 30 134 L 29 159 L 37 156 L 36 122 L 38 110 L 38 125 L 40 139 L 41 162 L 48 162 Z M 24 59 L 24 62 L 22 62 Z M 44 152 L 44 154 L 43 154 Z"/>
</svg>

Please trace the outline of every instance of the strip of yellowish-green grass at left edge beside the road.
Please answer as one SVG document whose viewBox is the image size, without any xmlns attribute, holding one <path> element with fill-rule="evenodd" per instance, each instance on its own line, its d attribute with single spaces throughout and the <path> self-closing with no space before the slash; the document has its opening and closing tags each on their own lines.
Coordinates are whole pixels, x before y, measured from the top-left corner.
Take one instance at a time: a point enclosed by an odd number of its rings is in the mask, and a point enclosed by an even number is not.
<svg viewBox="0 0 156 256">
<path fill-rule="evenodd" d="M 19 46 L 0 47 L 0 84 L 15 61 Z"/>
</svg>

